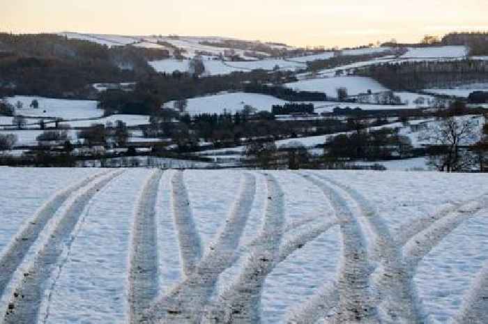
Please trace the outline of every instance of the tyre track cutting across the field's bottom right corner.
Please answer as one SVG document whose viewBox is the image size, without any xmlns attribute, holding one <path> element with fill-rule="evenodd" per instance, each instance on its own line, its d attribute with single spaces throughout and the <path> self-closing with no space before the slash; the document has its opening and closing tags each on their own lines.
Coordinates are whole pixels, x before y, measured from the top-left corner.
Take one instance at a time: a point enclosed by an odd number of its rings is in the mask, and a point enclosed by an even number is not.
<svg viewBox="0 0 488 324">
<path fill-rule="evenodd" d="M 459 313 L 455 316 L 454 324 L 486 324 L 488 323 L 488 263 L 480 270 L 471 284 L 471 288 L 464 297 Z"/>
</svg>

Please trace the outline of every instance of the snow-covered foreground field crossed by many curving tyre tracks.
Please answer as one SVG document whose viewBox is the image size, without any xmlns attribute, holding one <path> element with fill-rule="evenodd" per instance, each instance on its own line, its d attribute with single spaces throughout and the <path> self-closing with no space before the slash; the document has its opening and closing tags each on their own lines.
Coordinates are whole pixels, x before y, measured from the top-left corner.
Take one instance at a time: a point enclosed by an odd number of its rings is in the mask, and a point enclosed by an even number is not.
<svg viewBox="0 0 488 324">
<path fill-rule="evenodd" d="M 0 180 L 1 323 L 487 323 L 483 174 L 0 168 Z"/>
</svg>

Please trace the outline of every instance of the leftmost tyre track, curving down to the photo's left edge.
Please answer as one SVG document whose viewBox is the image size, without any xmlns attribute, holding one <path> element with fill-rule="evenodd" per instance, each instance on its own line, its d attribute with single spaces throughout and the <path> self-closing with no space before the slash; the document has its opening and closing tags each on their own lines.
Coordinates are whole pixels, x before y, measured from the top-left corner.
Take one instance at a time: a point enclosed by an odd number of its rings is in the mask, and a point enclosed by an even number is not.
<svg viewBox="0 0 488 324">
<path fill-rule="evenodd" d="M 12 279 L 15 270 L 19 267 L 19 265 L 24 260 L 27 252 L 31 248 L 34 242 L 39 237 L 39 234 L 45 228 L 49 219 L 54 217 L 56 211 L 63 205 L 65 201 L 68 200 L 70 196 L 75 194 L 77 190 L 86 185 L 89 185 L 93 180 L 100 178 L 105 174 L 105 172 L 97 173 L 93 176 L 89 176 L 88 178 L 82 180 L 81 182 L 68 187 L 68 189 L 61 190 L 52 196 L 49 201 L 43 204 L 39 210 L 36 211 L 36 214 L 27 223 L 23 229 L 20 230 L 20 233 L 17 233 L 13 241 L 10 245 L 6 248 L 6 252 L 1 255 L 0 259 L 0 298 L 5 293 L 6 287 L 10 279 Z"/>
</svg>

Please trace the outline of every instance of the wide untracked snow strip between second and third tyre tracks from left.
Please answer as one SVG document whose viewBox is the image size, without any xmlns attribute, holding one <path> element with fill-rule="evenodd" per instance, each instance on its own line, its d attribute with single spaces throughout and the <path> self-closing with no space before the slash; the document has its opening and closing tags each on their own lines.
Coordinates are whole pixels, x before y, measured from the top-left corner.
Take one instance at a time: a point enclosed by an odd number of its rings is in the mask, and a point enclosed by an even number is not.
<svg viewBox="0 0 488 324">
<path fill-rule="evenodd" d="M 131 169 L 84 211 L 45 323 L 127 323 L 129 236 L 148 171 Z"/>
</svg>

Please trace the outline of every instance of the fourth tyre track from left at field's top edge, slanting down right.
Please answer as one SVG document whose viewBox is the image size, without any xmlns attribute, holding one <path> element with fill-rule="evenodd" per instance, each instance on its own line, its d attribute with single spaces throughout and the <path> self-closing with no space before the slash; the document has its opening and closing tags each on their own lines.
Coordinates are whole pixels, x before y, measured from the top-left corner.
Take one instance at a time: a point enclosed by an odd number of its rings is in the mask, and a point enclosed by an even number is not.
<svg viewBox="0 0 488 324">
<path fill-rule="evenodd" d="M 193 220 L 190 199 L 183 181 L 183 171 L 171 179 L 174 223 L 178 231 L 183 273 L 188 277 L 197 267 L 202 254 L 201 239 Z"/>
</svg>

